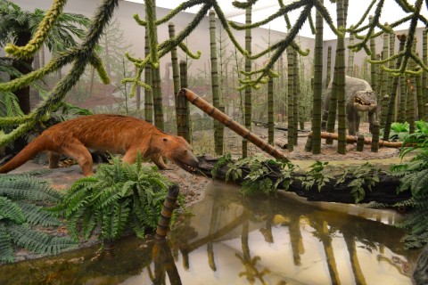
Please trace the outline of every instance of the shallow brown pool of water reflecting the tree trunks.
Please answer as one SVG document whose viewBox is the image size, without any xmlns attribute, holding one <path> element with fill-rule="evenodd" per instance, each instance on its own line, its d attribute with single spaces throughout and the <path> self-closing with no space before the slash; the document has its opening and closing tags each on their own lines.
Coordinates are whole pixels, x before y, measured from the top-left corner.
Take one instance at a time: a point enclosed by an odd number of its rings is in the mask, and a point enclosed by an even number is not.
<svg viewBox="0 0 428 285">
<path fill-rule="evenodd" d="M 237 191 L 211 184 L 168 240 L 128 237 L 113 252 L 96 246 L 1 265 L 0 284 L 411 284 L 418 252 L 403 250 L 402 232 L 375 216 Z"/>
</svg>

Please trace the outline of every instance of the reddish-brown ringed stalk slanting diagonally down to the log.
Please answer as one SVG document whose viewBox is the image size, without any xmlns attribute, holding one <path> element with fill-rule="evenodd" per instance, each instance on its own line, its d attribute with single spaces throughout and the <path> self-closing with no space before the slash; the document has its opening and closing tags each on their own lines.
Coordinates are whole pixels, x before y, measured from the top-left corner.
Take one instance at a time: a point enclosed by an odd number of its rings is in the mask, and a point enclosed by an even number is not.
<svg viewBox="0 0 428 285">
<path fill-rule="evenodd" d="M 283 152 L 277 151 L 268 142 L 261 139 L 258 135 L 251 133 L 251 131 L 244 126 L 239 125 L 234 119 L 228 117 L 225 113 L 221 112 L 212 106 L 209 102 L 206 102 L 200 96 L 194 94 L 192 91 L 188 89 L 181 89 L 179 96 L 185 96 L 185 98 L 194 106 L 210 115 L 210 117 L 217 119 L 221 124 L 227 126 L 236 134 L 241 135 L 245 140 L 254 143 L 261 151 L 267 152 L 276 159 L 289 161 Z"/>
</svg>

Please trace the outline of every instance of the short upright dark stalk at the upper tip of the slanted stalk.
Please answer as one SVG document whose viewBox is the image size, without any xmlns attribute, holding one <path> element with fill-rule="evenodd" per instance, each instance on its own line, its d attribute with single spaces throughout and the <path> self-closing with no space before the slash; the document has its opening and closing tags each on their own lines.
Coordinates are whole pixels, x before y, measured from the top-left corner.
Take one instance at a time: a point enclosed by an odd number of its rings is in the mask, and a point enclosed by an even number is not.
<svg viewBox="0 0 428 285">
<path fill-rule="evenodd" d="M 180 85 L 181 88 L 187 88 L 187 62 L 180 61 Z M 189 102 L 185 98 L 178 96 L 177 91 L 177 135 L 185 138 L 187 142 L 192 142 L 190 135 L 190 109 Z"/>
</svg>

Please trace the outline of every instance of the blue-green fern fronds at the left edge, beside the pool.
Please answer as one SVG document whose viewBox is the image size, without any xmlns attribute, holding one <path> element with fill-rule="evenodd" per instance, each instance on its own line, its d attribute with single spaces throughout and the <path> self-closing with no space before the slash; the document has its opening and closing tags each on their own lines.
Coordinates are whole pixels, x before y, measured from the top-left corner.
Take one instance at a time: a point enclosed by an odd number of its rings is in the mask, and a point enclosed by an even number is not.
<svg viewBox="0 0 428 285">
<path fill-rule="evenodd" d="M 27 175 L 0 175 L 0 262 L 14 261 L 12 245 L 39 254 L 57 254 L 77 243 L 38 230 L 62 223 L 40 203 L 56 203 L 62 195 L 44 181 Z M 37 229 L 31 226 L 37 225 Z"/>
</svg>

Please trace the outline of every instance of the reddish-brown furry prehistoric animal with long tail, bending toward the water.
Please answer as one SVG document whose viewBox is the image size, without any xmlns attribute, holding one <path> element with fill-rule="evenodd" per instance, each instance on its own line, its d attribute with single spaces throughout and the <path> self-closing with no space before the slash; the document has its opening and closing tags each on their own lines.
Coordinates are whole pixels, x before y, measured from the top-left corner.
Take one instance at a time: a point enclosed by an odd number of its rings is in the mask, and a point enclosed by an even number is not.
<svg viewBox="0 0 428 285">
<path fill-rule="evenodd" d="M 188 171 L 199 163 L 190 144 L 180 136 L 166 134 L 142 119 L 100 114 L 70 119 L 46 129 L 0 167 L 0 173 L 20 167 L 40 151 L 48 151 L 50 168 L 58 167 L 63 154 L 76 159 L 84 175 L 93 175 L 93 161 L 87 149 L 124 154 L 122 160 L 128 163 L 134 163 L 140 152 L 161 169 L 167 168 L 162 157 Z"/>
</svg>

